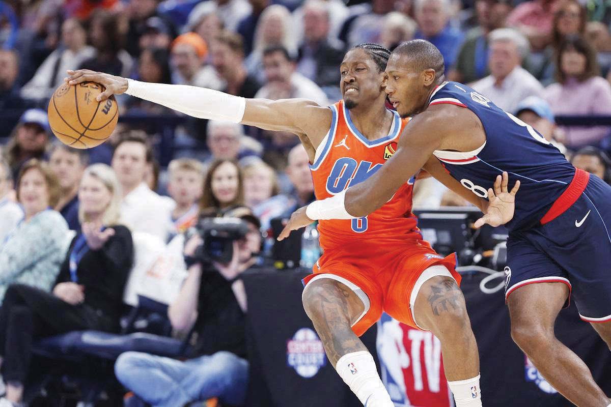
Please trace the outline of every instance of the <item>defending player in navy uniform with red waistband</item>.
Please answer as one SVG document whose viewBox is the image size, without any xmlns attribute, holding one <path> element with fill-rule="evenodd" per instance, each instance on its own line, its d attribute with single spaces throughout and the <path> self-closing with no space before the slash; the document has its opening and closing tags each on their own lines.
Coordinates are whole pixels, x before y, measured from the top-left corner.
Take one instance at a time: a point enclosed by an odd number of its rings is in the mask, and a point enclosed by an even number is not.
<svg viewBox="0 0 611 407">
<path fill-rule="evenodd" d="M 282 236 L 316 219 L 367 216 L 431 156 L 482 198 L 491 195 L 489 180 L 507 171 L 522 182 L 507 223 L 511 336 L 571 402 L 611 406 L 584 362 L 554 335 L 554 321 L 572 293 L 581 318 L 611 347 L 611 187 L 576 170 L 541 134 L 486 96 L 444 81 L 444 60 L 431 43 L 400 45 L 386 73 L 393 106 L 401 117 L 414 117 L 397 152 L 366 181 L 296 211 Z"/>
</svg>

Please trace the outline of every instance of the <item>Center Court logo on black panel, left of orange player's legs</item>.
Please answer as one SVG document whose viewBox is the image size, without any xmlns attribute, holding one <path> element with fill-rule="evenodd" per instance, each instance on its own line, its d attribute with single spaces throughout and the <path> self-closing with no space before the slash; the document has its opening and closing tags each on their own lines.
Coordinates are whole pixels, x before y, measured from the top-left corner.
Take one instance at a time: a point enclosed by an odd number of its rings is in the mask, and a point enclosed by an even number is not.
<svg viewBox="0 0 611 407">
<path fill-rule="evenodd" d="M 313 377 L 326 363 L 323 342 L 310 328 L 301 328 L 293 335 L 293 339 L 287 340 L 287 364 L 299 376 Z"/>
</svg>

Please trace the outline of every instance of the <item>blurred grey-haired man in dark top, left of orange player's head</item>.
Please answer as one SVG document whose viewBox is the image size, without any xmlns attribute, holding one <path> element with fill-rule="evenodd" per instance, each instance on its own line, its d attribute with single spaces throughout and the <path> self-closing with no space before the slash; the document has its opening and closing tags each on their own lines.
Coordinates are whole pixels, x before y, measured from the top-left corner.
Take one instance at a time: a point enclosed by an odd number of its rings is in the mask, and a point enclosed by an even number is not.
<svg viewBox="0 0 611 407">
<path fill-rule="evenodd" d="M 302 7 L 304 41 L 299 47 L 296 71 L 320 87 L 338 88 L 343 44 L 330 37 L 328 3 L 308 0 Z"/>
</svg>

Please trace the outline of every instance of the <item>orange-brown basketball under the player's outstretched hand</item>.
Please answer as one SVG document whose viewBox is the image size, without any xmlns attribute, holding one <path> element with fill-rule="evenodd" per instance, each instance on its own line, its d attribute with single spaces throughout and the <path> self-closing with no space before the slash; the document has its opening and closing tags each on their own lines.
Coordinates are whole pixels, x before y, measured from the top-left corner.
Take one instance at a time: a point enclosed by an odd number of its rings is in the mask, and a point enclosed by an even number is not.
<svg viewBox="0 0 611 407">
<path fill-rule="evenodd" d="M 98 102 L 106 88 L 95 82 L 63 84 L 49 101 L 49 126 L 55 137 L 74 148 L 100 145 L 114 131 L 119 107 L 114 96 Z"/>
</svg>

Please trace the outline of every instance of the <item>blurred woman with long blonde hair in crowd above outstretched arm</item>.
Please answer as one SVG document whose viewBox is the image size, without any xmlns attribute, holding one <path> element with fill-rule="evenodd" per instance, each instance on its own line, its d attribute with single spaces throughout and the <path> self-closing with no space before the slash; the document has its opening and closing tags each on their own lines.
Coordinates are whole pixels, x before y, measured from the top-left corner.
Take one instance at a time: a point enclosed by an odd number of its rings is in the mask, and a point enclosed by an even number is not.
<svg viewBox="0 0 611 407">
<path fill-rule="evenodd" d="M 272 4 L 263 10 L 255 29 L 255 40 L 251 54 L 244 62 L 250 74 L 261 83 L 263 74 L 263 51 L 271 46 L 283 46 L 289 56 L 297 55 L 296 33 L 291 27 L 291 14 L 284 5 Z"/>
</svg>

